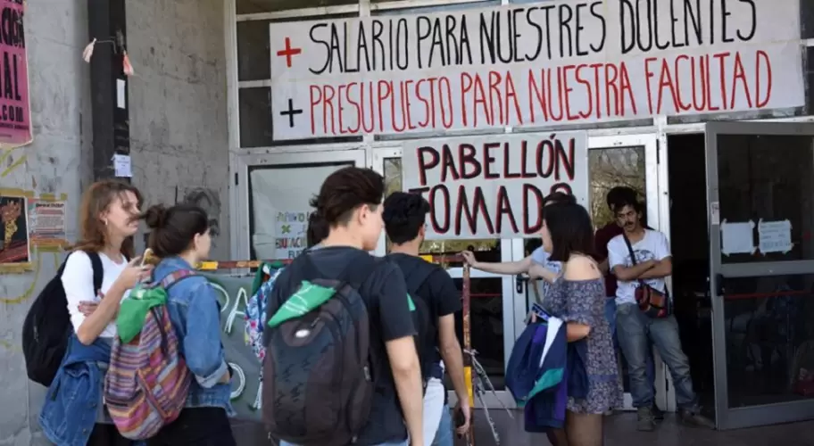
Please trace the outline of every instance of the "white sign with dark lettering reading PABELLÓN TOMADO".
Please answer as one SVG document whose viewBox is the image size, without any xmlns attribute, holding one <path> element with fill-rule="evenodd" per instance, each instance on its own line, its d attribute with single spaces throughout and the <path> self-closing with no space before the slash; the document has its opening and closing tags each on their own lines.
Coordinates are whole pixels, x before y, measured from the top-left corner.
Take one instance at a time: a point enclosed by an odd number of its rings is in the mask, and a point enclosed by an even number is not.
<svg viewBox="0 0 814 446">
<path fill-rule="evenodd" d="M 545 195 L 588 196 L 585 132 L 404 142 L 404 190 L 428 199 L 428 239 L 538 236 Z"/>
</svg>

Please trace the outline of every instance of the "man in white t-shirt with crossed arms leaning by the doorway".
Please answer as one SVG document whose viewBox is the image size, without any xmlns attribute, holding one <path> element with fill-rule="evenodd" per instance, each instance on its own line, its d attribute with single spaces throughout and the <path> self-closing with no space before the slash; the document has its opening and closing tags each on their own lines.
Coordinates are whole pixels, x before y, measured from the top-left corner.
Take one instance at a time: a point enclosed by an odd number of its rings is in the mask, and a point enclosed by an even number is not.
<svg viewBox="0 0 814 446">
<path fill-rule="evenodd" d="M 687 425 L 714 428 L 715 424 L 699 413 L 689 360 L 681 349 L 676 318 L 673 315 L 650 318 L 639 310 L 635 301 L 635 289 L 643 284 L 661 293 L 667 292 L 664 279 L 672 274 L 672 254 L 667 237 L 642 226 L 642 204 L 635 199 L 619 196 L 610 203 L 610 208 L 624 229 L 622 235 L 613 237 L 608 243 L 608 266 L 619 280 L 616 329 L 619 347 L 627 359 L 630 393 L 638 412 L 637 428 L 652 431 L 655 427 L 653 388 L 647 379 L 648 338 L 673 377 L 681 421 Z"/>
</svg>

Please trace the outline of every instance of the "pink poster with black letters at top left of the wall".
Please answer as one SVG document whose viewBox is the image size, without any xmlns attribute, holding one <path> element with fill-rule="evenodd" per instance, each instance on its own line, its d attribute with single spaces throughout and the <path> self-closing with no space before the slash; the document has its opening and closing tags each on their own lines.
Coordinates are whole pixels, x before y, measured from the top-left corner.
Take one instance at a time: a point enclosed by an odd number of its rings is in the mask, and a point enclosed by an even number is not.
<svg viewBox="0 0 814 446">
<path fill-rule="evenodd" d="M 23 0 L 0 0 L 3 32 L 0 39 L 0 148 L 27 145 L 33 140 L 29 103 L 29 61 Z"/>
</svg>

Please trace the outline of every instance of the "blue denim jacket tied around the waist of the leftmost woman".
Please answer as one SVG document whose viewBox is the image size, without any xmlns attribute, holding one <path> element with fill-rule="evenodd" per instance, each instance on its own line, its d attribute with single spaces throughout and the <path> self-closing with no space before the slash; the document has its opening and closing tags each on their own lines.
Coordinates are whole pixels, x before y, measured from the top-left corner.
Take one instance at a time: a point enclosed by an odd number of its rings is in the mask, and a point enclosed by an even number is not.
<svg viewBox="0 0 814 446">
<path fill-rule="evenodd" d="M 48 440 L 60 446 L 87 444 L 96 424 L 97 406 L 102 401 L 99 393 L 104 372 L 98 364 L 109 363 L 110 355 L 111 344 L 104 339 L 84 345 L 76 335 L 71 335 L 62 366 L 39 413 L 39 425 Z"/>
</svg>

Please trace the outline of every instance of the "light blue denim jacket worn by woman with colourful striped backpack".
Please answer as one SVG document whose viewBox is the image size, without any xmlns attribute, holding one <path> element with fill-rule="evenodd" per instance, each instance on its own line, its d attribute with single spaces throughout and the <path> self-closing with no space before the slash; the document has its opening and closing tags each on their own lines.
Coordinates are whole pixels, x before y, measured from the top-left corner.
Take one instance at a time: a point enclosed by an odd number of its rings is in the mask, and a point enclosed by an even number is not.
<svg viewBox="0 0 814 446">
<path fill-rule="evenodd" d="M 164 259 L 154 270 L 154 280 L 162 280 L 179 269 L 193 267 L 179 257 Z M 229 402 L 231 385 L 218 384 L 228 368 L 220 343 L 220 304 L 215 289 L 205 277 L 187 277 L 170 286 L 167 308 L 181 354 L 195 375 L 186 407 L 222 408 L 229 417 L 234 417 Z"/>
</svg>

